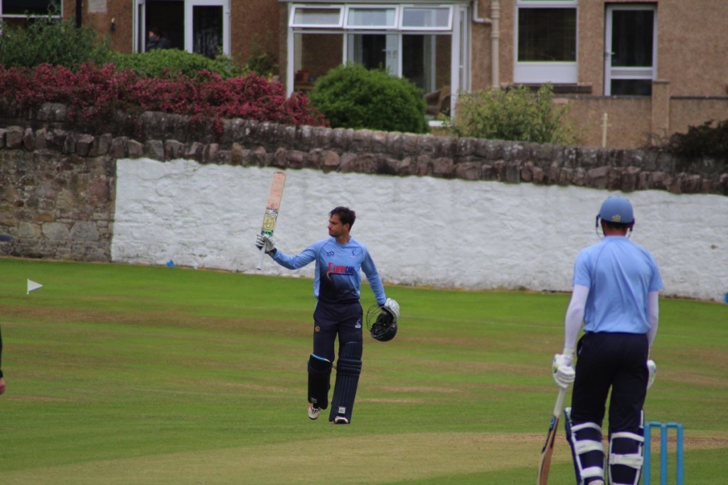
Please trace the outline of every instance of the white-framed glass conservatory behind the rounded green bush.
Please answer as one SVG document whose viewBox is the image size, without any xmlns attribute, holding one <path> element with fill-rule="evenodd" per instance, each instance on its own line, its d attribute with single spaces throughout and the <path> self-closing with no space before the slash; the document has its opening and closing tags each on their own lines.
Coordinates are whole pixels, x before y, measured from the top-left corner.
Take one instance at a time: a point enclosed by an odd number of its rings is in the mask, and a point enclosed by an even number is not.
<svg viewBox="0 0 728 485">
<path fill-rule="evenodd" d="M 435 117 L 438 111 L 451 110 L 456 93 L 470 87 L 468 0 L 289 3 L 289 93 L 312 90 L 316 79 L 332 68 L 357 63 L 384 68 L 416 84 L 432 100 L 428 114 Z"/>
</svg>

